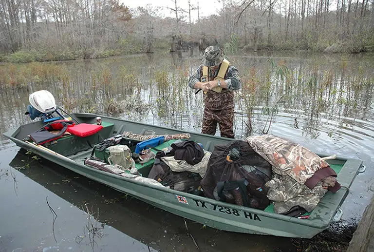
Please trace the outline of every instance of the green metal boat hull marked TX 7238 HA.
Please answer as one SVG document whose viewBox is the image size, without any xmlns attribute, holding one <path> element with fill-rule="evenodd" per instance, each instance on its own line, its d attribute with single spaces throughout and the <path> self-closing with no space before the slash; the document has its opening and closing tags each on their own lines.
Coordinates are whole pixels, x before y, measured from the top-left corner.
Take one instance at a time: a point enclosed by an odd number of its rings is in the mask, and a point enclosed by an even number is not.
<svg viewBox="0 0 374 252">
<path fill-rule="evenodd" d="M 76 114 L 75 116 L 79 119 L 84 116 L 94 118 L 96 115 Z M 147 130 L 152 129 L 158 134 L 175 134 L 184 132 L 154 125 L 136 124 L 134 122 L 112 117 L 101 117 L 103 120 L 112 121 L 114 125 L 116 125 L 113 134 L 117 133 L 116 128 L 118 129 L 118 127 L 121 127 L 124 124 L 137 125 L 138 132 L 143 131 L 143 127 Z M 361 160 L 344 159 L 339 157 L 339 161 L 344 162 L 344 166 L 338 174 L 338 181 L 343 185 L 343 187 L 335 194 L 330 192 L 325 194 L 316 209 L 310 215 L 309 219 L 298 219 L 281 214 L 268 213 L 257 209 L 237 206 L 193 194 L 178 192 L 168 188 L 144 184 L 126 177 L 96 170 L 85 166 L 83 162 L 79 162 L 79 155 L 73 156 L 74 158 L 64 158 L 61 155 L 56 155 L 53 152 L 39 148 L 35 145 L 27 144 L 18 137 L 15 137 L 17 135 L 24 135 L 20 134 L 20 130 L 21 129 L 19 128 L 10 130 L 6 132 L 4 136 L 10 138 L 19 147 L 32 151 L 33 153 L 77 174 L 105 184 L 122 193 L 130 194 L 139 200 L 170 213 L 199 222 L 202 225 L 229 232 L 266 234 L 285 237 L 313 237 L 328 227 L 337 212 L 338 207 L 348 194 L 349 187 L 361 165 Z M 210 141 L 211 144 L 208 148 L 211 150 L 215 144 L 222 144 L 230 140 L 216 136 L 206 136 L 195 133 L 190 134 L 191 138 L 200 139 L 204 142 L 205 146 L 207 145 L 207 142 Z"/>
</svg>

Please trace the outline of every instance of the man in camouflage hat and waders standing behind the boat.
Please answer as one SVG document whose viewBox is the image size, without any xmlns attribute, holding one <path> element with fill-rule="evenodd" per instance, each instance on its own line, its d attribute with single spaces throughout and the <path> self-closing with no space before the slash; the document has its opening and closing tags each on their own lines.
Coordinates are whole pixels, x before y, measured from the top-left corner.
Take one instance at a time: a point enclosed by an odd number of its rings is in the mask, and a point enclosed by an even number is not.
<svg viewBox="0 0 374 252">
<path fill-rule="evenodd" d="M 221 136 L 234 138 L 234 93 L 242 87 L 238 69 L 224 59 L 218 46 L 208 46 L 203 64 L 190 76 L 188 85 L 204 92 L 204 116 L 201 133 L 214 135 L 217 123 Z"/>
</svg>

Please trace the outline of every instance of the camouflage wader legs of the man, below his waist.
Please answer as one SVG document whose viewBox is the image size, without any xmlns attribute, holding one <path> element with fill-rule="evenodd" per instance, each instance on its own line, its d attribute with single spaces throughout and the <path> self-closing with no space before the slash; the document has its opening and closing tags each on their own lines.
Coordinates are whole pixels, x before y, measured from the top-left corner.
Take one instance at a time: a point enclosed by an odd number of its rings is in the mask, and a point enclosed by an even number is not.
<svg viewBox="0 0 374 252">
<path fill-rule="evenodd" d="M 210 110 L 205 108 L 201 133 L 215 135 L 217 123 L 220 126 L 221 136 L 234 138 L 234 108 L 225 110 Z"/>
</svg>

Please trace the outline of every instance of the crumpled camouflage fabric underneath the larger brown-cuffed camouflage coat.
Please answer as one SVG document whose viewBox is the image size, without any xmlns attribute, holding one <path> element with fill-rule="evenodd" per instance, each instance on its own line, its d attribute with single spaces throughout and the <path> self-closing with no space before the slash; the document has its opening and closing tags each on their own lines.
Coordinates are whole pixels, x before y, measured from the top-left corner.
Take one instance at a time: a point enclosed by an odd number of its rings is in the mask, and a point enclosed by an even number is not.
<svg viewBox="0 0 374 252">
<path fill-rule="evenodd" d="M 274 213 L 286 213 L 294 206 L 311 212 L 327 192 L 321 182 L 312 190 L 287 175 L 275 175 L 265 186 L 269 189 L 267 197 L 274 201 Z"/>
</svg>

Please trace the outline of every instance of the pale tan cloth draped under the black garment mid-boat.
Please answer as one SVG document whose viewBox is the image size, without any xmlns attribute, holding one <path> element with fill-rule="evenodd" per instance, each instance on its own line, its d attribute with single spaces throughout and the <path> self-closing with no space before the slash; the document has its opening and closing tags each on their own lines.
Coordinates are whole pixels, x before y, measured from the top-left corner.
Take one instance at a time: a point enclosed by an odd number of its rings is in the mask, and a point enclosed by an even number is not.
<svg viewBox="0 0 374 252">
<path fill-rule="evenodd" d="M 198 173 L 201 177 L 204 177 L 206 169 L 208 168 L 209 157 L 211 155 L 211 153 L 207 151 L 204 153 L 205 155 L 203 156 L 203 159 L 195 165 L 190 165 L 185 160 L 176 160 L 174 156 L 164 156 L 161 157 L 161 160 L 163 160 L 173 172 Z"/>
</svg>

